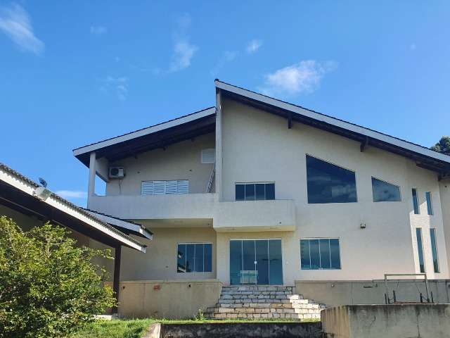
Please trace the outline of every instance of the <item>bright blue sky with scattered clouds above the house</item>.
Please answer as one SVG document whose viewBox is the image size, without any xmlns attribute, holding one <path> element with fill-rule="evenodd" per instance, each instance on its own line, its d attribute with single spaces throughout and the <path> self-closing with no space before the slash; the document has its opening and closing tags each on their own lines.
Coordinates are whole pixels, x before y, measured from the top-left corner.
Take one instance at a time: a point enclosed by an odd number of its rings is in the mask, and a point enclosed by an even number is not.
<svg viewBox="0 0 450 338">
<path fill-rule="evenodd" d="M 213 106 L 216 77 L 424 146 L 450 134 L 449 1 L 130 4 L 0 0 L 0 161 L 76 204 L 72 149 Z"/>
</svg>

